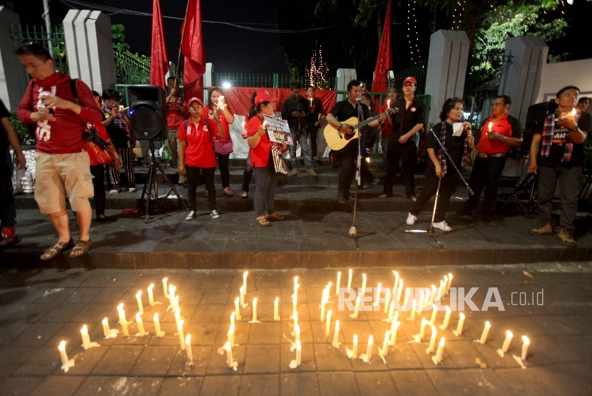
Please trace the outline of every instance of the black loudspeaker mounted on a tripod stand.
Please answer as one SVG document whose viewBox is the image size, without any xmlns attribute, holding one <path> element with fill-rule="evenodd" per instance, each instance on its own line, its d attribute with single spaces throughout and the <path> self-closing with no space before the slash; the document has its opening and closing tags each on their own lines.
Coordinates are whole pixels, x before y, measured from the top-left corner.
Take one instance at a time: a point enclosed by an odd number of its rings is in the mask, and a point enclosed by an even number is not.
<svg viewBox="0 0 592 396">
<path fill-rule="evenodd" d="M 129 85 L 128 99 L 133 137 L 165 140 L 168 137 L 165 90 L 156 85 Z"/>
</svg>

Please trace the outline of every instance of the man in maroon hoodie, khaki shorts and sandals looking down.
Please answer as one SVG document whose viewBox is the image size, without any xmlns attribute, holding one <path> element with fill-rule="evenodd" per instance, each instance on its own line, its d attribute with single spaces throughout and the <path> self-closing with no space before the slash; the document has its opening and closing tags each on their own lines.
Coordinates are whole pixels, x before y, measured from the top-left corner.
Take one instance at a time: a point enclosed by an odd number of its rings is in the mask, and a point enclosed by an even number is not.
<svg viewBox="0 0 592 396">
<path fill-rule="evenodd" d="M 82 132 L 87 122 L 101 123 L 103 116 L 85 83 L 76 80 L 71 84 L 69 75 L 55 71 L 53 59 L 43 44 L 24 44 L 16 53 L 32 77 L 17 115 L 24 123 L 37 125 L 35 200 L 59 234 L 58 243 L 50 246 L 41 260 L 52 259 L 72 246 L 70 256 L 78 257 L 92 246 L 88 235 L 92 217 L 88 198 L 94 193 L 91 160 Z M 78 104 L 73 97 L 73 85 Z M 76 246 L 70 234 L 66 196 L 78 219 L 80 235 Z"/>
</svg>

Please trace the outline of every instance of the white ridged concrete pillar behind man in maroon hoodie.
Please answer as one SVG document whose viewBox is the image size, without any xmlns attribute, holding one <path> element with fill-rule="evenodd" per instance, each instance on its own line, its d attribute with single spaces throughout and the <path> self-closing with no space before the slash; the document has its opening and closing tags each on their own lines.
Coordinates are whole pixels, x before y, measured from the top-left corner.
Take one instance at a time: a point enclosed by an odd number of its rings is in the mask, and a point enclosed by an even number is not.
<svg viewBox="0 0 592 396">
<path fill-rule="evenodd" d="M 98 92 L 117 83 L 111 19 L 106 14 L 70 10 L 63 19 L 63 31 L 72 78 L 80 78 Z"/>
</svg>

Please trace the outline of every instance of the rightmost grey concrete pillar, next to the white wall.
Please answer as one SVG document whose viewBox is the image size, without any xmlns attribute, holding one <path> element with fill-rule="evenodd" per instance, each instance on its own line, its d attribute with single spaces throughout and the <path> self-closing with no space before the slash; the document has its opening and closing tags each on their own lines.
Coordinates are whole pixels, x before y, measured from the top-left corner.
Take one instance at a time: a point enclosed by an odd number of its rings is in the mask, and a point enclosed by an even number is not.
<svg viewBox="0 0 592 396">
<path fill-rule="evenodd" d="M 529 106 L 536 103 L 539 95 L 548 46 L 539 37 L 512 37 L 506 41 L 504 56 L 511 56 L 511 61 L 504 62 L 498 95 L 508 95 L 511 98 L 510 115 L 518 118 L 521 125 L 524 125 Z"/>
</svg>

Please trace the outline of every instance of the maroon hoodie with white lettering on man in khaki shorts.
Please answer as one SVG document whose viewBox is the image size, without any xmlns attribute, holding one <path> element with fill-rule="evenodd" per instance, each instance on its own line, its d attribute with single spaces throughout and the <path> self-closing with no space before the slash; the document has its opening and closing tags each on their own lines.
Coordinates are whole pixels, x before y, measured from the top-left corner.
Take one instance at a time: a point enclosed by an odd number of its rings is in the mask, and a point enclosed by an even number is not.
<svg viewBox="0 0 592 396">
<path fill-rule="evenodd" d="M 39 108 L 45 108 L 41 104 L 40 95 L 41 97 L 55 95 L 75 102 L 70 80 L 70 76 L 61 71 L 56 71 L 41 81 L 31 80 L 16 112 L 19 119 L 24 123 L 34 123 L 31 120 L 31 113 Z M 93 93 L 82 80 L 76 80 L 76 93 L 81 107 L 80 114 L 76 115 L 72 110 L 56 108 L 53 114 L 55 121 L 38 122 L 35 130 L 36 150 L 49 154 L 70 154 L 83 150 L 82 131 L 86 123 L 101 123 L 103 115 L 95 103 Z"/>
</svg>

